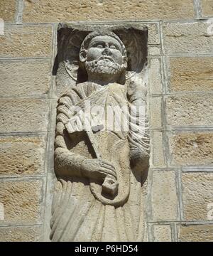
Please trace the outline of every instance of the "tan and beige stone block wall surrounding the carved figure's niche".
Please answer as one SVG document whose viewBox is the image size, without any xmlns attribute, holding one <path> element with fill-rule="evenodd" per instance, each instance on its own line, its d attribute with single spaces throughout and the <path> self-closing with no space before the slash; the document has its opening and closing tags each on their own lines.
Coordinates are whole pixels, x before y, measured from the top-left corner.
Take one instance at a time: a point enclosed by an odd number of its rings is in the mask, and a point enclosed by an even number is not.
<svg viewBox="0 0 213 256">
<path fill-rule="evenodd" d="M 0 1 L 0 241 L 48 240 L 57 26 L 78 21 L 148 26 L 148 240 L 213 240 L 211 16 L 212 0 Z"/>
</svg>

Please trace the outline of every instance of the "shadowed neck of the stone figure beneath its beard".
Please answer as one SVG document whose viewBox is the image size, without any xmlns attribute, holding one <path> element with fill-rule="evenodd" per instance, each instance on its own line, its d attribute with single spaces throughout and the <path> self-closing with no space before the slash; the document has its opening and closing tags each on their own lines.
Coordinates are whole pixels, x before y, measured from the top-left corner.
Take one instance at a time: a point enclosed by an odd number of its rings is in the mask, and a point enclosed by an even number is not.
<svg viewBox="0 0 213 256">
<path fill-rule="evenodd" d="M 88 73 L 88 82 L 94 82 L 98 85 L 108 85 L 109 83 L 118 82 L 121 74 L 99 74 Z"/>
</svg>

